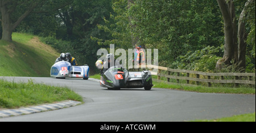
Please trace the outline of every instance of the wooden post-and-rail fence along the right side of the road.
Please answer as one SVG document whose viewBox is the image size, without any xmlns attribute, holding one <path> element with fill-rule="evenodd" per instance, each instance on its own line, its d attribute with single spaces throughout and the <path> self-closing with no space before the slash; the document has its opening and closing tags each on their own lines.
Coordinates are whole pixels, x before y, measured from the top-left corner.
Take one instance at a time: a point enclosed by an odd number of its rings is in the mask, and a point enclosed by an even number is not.
<svg viewBox="0 0 256 133">
<path fill-rule="evenodd" d="M 220 83 L 222 85 L 234 84 L 234 87 L 239 87 L 240 84 L 255 86 L 255 73 L 211 73 L 192 70 L 178 70 L 154 65 L 146 65 L 146 68 L 151 70 L 152 75 L 158 76 L 157 79 L 154 79 L 154 81 L 158 82 L 164 81 L 166 83 L 171 83 L 170 81 L 172 79 L 172 82 L 176 80 L 176 83 L 181 83 L 180 80 L 183 80 L 183 82 L 185 80 L 185 84 L 200 85 L 200 83 L 206 83 L 208 87 L 211 87 L 212 83 Z M 156 72 L 154 72 L 154 70 Z"/>
</svg>

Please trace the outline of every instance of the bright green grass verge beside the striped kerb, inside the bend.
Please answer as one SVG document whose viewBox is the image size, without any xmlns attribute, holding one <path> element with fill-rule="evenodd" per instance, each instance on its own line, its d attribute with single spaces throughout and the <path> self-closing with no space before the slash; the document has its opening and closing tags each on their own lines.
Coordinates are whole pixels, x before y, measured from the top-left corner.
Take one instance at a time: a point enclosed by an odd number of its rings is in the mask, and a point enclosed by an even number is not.
<svg viewBox="0 0 256 133">
<path fill-rule="evenodd" d="M 82 102 L 82 97 L 67 87 L 36 84 L 32 80 L 27 83 L 0 80 L 0 108 L 14 109 L 64 100 Z"/>
</svg>

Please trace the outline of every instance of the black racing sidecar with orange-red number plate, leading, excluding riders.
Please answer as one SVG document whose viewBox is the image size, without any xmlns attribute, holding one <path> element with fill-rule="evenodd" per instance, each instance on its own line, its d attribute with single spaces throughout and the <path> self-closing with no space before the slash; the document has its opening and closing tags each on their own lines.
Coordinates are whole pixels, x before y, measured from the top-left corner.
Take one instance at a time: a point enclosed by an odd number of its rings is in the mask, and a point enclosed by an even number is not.
<svg viewBox="0 0 256 133">
<path fill-rule="evenodd" d="M 143 88 L 150 90 L 153 86 L 151 72 L 129 72 L 121 66 L 110 67 L 100 81 L 101 87 L 108 89 Z"/>
</svg>

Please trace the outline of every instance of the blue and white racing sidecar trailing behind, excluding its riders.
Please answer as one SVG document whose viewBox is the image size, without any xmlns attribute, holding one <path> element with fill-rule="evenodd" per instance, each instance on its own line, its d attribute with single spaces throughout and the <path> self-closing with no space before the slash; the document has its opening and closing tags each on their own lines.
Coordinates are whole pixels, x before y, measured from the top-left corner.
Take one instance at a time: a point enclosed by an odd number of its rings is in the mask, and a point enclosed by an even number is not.
<svg viewBox="0 0 256 133">
<path fill-rule="evenodd" d="M 51 67 L 51 77 L 56 78 L 89 78 L 89 66 L 72 66 L 71 63 L 60 61 Z"/>
</svg>

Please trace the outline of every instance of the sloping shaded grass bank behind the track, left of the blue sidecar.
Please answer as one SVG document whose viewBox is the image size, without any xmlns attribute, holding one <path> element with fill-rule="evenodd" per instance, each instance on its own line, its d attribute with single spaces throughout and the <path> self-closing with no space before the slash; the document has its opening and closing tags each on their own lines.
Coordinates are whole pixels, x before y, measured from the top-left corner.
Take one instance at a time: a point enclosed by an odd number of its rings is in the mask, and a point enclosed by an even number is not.
<svg viewBox="0 0 256 133">
<path fill-rule="evenodd" d="M 0 76 L 47 77 L 57 57 L 38 37 L 13 33 L 13 42 L 0 40 Z"/>
</svg>

